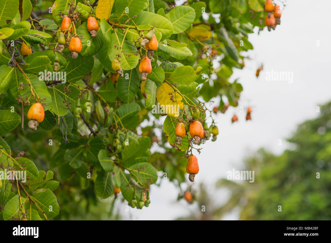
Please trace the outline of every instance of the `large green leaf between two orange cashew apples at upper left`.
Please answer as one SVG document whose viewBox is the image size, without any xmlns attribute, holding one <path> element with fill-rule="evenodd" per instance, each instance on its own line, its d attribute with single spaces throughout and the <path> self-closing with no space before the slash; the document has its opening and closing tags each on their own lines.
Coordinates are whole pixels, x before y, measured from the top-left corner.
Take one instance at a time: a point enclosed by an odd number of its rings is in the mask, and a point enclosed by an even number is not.
<svg viewBox="0 0 331 243">
<path fill-rule="evenodd" d="M 98 35 L 92 37 L 90 32 L 87 30 L 87 22 L 83 23 L 76 30 L 77 35 L 82 36 L 80 38 L 82 43 L 82 50 L 78 53 L 81 57 L 93 56 L 98 53 L 103 45 L 102 31 L 99 28 L 97 31 Z"/>
</svg>

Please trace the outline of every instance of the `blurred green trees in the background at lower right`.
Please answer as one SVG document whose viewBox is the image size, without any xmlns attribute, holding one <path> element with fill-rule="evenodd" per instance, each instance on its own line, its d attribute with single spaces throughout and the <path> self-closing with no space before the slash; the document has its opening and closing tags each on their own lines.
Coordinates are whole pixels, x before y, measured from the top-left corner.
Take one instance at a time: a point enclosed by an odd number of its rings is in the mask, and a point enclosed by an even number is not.
<svg viewBox="0 0 331 243">
<path fill-rule="evenodd" d="M 240 220 L 329 220 L 331 102 L 316 109 L 319 116 L 300 124 L 288 139 L 294 149 L 276 156 L 261 148 L 245 160 L 243 170 L 255 171 L 254 183 L 220 179 L 216 188 L 231 191 L 229 200 L 220 207 L 212 204 L 212 196 L 201 184 L 196 211 L 180 219 L 220 220 L 239 208 Z M 202 205 L 206 212 L 201 212 Z"/>
</svg>

